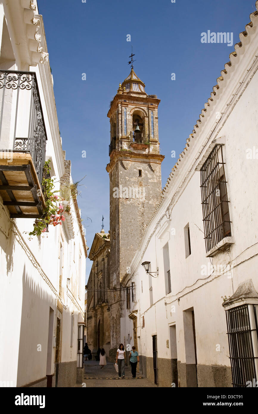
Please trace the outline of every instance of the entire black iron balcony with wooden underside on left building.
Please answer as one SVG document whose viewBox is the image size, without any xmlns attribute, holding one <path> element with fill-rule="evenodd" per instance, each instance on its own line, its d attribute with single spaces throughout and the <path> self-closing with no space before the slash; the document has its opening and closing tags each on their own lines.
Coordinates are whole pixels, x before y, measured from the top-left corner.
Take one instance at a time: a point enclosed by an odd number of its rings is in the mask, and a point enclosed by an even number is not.
<svg viewBox="0 0 258 414">
<path fill-rule="evenodd" d="M 40 218 L 47 137 L 35 72 L 0 70 L 0 111 L 0 194 L 11 217 Z"/>
</svg>

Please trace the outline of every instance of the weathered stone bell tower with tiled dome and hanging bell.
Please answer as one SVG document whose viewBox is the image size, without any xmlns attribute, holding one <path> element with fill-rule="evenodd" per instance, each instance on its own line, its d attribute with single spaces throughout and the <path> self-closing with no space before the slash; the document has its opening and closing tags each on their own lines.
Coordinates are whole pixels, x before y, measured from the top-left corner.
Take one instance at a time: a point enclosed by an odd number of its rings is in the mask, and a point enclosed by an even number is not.
<svg viewBox="0 0 258 414">
<path fill-rule="evenodd" d="M 145 92 L 145 84 L 133 70 L 119 84 L 108 112 L 110 118 L 110 288 L 121 280 L 139 246 L 145 228 L 161 201 L 158 106 L 156 95 Z M 111 338 L 120 341 L 118 293 L 111 305 Z M 123 298 L 121 298 L 123 299 Z M 113 308 L 113 309 L 112 309 Z M 113 320 L 112 320 L 113 319 Z M 112 339 L 111 339 L 112 342 Z M 112 343 L 111 343 L 112 348 Z"/>
</svg>

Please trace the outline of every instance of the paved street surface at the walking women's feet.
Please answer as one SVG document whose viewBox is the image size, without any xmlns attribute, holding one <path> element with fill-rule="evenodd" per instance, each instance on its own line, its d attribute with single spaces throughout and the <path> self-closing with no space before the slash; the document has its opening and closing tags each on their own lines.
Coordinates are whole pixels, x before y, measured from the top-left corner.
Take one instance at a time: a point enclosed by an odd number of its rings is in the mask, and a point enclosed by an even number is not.
<svg viewBox="0 0 258 414">
<path fill-rule="evenodd" d="M 99 361 L 86 361 L 84 363 L 84 383 L 86 388 L 149 388 L 157 385 L 152 384 L 147 378 L 142 377 L 139 373 L 136 378 L 132 378 L 131 367 L 125 366 L 125 378 L 119 379 L 113 362 L 107 362 L 104 369 L 101 369 Z M 76 387 L 82 385 L 77 384 Z"/>
</svg>

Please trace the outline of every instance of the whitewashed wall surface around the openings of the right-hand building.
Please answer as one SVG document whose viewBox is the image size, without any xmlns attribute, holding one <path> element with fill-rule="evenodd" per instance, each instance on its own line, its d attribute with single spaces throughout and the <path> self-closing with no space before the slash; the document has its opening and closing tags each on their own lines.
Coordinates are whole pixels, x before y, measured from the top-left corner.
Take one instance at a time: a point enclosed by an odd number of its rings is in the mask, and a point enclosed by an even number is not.
<svg viewBox="0 0 258 414">
<path fill-rule="evenodd" d="M 231 296 L 239 284 L 247 279 L 252 279 L 258 291 L 257 40 L 256 17 L 253 27 L 248 27 L 248 36 L 241 36 L 242 47 L 236 45 L 237 56 L 230 56 L 231 67 L 227 66 L 227 74 L 222 73 L 224 80 L 217 79 L 219 89 L 216 90 L 216 97 L 210 102 L 210 107 L 205 104 L 207 113 L 203 112 L 204 118 L 200 117 L 199 128 L 195 128 L 196 133 L 190 136 L 189 146 L 180 157 L 171 181 L 168 182 L 162 205 L 149 223 L 141 248 L 131 263 L 130 277 L 136 285 L 136 301 L 131 306 L 131 311 L 137 310 L 137 335 L 140 336 L 138 348 L 144 356 L 152 357 L 152 335 L 157 334 L 158 357 L 172 358 L 171 344 L 167 348 L 166 340 L 169 339 L 169 325 L 175 323 L 177 359 L 186 362 L 188 344 L 184 337 L 183 311 L 193 307 L 198 364 L 230 366 L 222 296 Z M 217 113 L 223 114 L 219 121 L 216 119 Z M 212 135 L 211 131 L 214 131 Z M 209 136 L 210 139 L 207 140 Z M 231 272 L 222 275 L 216 271 L 212 273 L 210 258 L 206 258 L 200 172 L 195 171 L 212 140 L 219 137 L 225 137 L 223 156 L 230 200 L 231 234 L 234 239 L 229 253 L 219 253 L 211 259 L 215 266 L 225 266 L 231 262 Z M 247 150 L 253 147 L 257 150 L 257 159 L 247 159 Z M 174 201 L 168 219 L 165 212 L 172 199 Z M 188 223 L 191 255 L 186 258 L 184 227 Z M 162 251 L 167 242 L 172 288 L 168 295 L 165 291 Z M 150 306 L 149 278 L 141 263 L 150 261 L 151 271 L 154 272 L 156 256 L 159 276 L 152 278 L 154 304 Z M 207 265 L 206 275 L 202 273 L 204 265 Z M 126 282 L 130 284 L 131 280 L 124 280 L 123 285 Z M 172 305 L 175 306 L 173 310 Z M 145 327 L 142 329 L 143 315 Z M 131 321 L 128 318 L 123 321 L 121 333 L 132 332 Z"/>
</svg>

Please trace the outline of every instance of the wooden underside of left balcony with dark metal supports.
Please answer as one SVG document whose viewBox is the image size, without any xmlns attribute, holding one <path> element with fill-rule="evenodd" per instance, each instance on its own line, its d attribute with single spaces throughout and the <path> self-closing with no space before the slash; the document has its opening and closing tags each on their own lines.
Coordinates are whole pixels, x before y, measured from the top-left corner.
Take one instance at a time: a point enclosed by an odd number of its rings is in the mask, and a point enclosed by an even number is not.
<svg viewBox="0 0 258 414">
<path fill-rule="evenodd" d="M 10 217 L 42 217 L 46 206 L 30 153 L 0 152 L 0 195 Z"/>
</svg>

